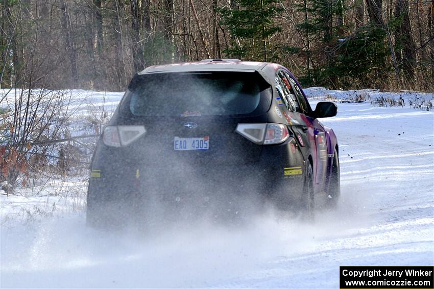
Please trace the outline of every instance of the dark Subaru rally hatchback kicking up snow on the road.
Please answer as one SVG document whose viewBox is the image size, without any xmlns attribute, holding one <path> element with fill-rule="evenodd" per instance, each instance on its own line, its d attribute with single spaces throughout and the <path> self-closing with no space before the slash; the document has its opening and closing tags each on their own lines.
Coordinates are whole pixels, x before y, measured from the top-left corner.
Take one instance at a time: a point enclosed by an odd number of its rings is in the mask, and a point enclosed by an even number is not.
<svg viewBox="0 0 434 289">
<path fill-rule="evenodd" d="M 336 113 L 333 102 L 312 110 L 296 77 L 275 63 L 148 67 L 94 151 L 87 222 L 153 214 L 156 203 L 226 212 L 252 195 L 312 217 L 340 196 L 339 146 L 318 120 Z"/>
</svg>

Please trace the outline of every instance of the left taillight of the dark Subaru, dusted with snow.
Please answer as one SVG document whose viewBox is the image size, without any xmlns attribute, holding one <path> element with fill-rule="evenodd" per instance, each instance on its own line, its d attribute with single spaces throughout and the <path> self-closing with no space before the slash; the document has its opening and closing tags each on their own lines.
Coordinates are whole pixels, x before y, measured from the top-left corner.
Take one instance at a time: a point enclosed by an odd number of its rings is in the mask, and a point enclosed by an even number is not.
<svg viewBox="0 0 434 289">
<path fill-rule="evenodd" d="M 113 147 L 127 146 L 144 133 L 146 129 L 141 125 L 106 126 L 103 142 Z"/>
</svg>

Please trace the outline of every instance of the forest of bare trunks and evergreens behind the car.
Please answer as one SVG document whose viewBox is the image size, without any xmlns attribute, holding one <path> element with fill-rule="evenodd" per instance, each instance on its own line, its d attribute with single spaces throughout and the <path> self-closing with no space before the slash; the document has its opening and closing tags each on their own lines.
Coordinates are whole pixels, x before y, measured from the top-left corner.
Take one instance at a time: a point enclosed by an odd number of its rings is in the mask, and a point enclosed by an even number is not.
<svg viewBox="0 0 434 289">
<path fill-rule="evenodd" d="M 123 91 L 157 64 L 280 63 L 303 86 L 432 91 L 434 0 L 0 0 L 1 88 Z"/>
</svg>

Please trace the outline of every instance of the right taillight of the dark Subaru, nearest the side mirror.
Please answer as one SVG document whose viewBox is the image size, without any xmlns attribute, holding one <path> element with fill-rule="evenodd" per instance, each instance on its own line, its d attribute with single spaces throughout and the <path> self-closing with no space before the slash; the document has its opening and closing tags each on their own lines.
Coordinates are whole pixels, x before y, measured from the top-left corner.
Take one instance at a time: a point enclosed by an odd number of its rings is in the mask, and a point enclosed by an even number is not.
<svg viewBox="0 0 434 289">
<path fill-rule="evenodd" d="M 258 145 L 280 144 L 290 137 L 286 125 L 279 123 L 238 123 L 236 132 Z"/>
</svg>

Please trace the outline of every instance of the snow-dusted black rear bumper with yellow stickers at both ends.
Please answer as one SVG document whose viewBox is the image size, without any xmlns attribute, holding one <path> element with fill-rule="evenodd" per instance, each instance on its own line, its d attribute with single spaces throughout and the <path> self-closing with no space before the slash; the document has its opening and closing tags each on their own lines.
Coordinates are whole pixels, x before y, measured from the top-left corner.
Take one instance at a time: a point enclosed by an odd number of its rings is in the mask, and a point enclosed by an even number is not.
<svg viewBox="0 0 434 289">
<path fill-rule="evenodd" d="M 209 163 L 197 158 L 180 161 L 164 156 L 161 160 L 158 164 L 146 164 L 130 158 L 123 160 L 118 154 L 95 155 L 88 209 L 138 205 L 148 206 L 148 211 L 155 203 L 168 207 L 228 207 L 282 193 L 297 195 L 303 189 L 304 170 L 287 170 L 304 166 L 301 153 L 292 152 L 288 145 L 266 146 L 258 161 L 248 164 L 223 159 Z"/>
</svg>

